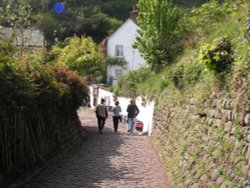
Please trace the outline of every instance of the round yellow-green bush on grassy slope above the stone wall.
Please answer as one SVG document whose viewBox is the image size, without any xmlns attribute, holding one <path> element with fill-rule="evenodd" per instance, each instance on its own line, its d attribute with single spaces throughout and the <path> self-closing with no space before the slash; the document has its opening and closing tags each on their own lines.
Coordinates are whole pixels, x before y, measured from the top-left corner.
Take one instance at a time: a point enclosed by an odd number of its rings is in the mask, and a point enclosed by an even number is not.
<svg viewBox="0 0 250 188">
<path fill-rule="evenodd" d="M 234 61 L 231 42 L 227 38 L 217 39 L 214 44 L 202 46 L 198 60 L 215 73 L 228 72 Z"/>
</svg>

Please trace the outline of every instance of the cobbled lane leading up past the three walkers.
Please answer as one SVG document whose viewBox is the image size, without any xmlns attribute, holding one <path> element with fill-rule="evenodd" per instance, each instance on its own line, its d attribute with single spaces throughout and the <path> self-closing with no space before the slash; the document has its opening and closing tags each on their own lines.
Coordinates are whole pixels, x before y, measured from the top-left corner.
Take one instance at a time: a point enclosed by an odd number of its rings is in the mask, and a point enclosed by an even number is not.
<svg viewBox="0 0 250 188">
<path fill-rule="evenodd" d="M 164 167 L 148 136 L 114 133 L 109 116 L 103 134 L 95 113 L 78 112 L 89 137 L 76 151 L 50 162 L 25 188 L 170 188 Z"/>
</svg>

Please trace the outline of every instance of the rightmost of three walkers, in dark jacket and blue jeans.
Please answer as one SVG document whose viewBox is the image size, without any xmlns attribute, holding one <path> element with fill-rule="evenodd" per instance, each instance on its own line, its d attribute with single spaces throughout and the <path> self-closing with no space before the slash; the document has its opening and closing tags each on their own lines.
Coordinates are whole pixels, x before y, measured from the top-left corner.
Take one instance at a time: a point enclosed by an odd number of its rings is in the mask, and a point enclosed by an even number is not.
<svg viewBox="0 0 250 188">
<path fill-rule="evenodd" d="M 130 101 L 130 104 L 127 107 L 127 123 L 128 123 L 128 133 L 133 133 L 134 125 L 136 121 L 136 116 L 139 114 L 139 109 L 135 104 L 134 100 Z"/>
</svg>

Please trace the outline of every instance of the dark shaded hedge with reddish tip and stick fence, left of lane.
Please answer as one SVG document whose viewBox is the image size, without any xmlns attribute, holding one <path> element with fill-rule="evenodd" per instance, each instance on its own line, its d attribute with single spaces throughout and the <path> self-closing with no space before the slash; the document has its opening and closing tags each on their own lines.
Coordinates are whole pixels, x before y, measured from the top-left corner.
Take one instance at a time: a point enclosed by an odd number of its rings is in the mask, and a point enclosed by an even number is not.
<svg viewBox="0 0 250 188">
<path fill-rule="evenodd" d="M 9 176 L 41 164 L 58 148 L 57 125 L 79 130 L 76 110 L 88 88 L 66 68 L 34 57 L 6 59 L 0 63 L 0 171 Z"/>
</svg>

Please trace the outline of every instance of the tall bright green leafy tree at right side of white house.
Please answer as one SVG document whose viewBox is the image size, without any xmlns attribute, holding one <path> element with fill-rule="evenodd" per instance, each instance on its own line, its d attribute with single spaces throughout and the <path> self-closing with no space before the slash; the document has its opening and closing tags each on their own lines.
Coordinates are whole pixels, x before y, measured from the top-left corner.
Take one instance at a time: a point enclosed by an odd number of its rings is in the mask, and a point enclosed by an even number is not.
<svg viewBox="0 0 250 188">
<path fill-rule="evenodd" d="M 135 47 L 154 70 L 173 61 L 179 46 L 179 9 L 170 0 L 139 0 Z"/>
</svg>

